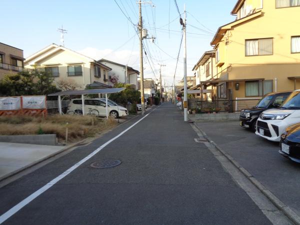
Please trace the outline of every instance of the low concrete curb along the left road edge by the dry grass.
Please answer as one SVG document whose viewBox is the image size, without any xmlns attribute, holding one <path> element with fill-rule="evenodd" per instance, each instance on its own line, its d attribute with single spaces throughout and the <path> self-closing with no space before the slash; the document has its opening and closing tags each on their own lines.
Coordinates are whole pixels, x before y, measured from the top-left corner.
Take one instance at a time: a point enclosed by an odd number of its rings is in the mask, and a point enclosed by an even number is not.
<svg viewBox="0 0 300 225">
<path fill-rule="evenodd" d="M 127 121 L 124 121 L 123 123 L 117 123 L 116 126 L 119 126 L 119 125 L 121 125 L 121 124 L 125 124 L 125 123 L 129 122 L 130 120 L 132 120 L 133 118 L 137 117 L 138 115 L 139 115 L 139 114 L 134 115 L 132 118 L 130 118 L 130 119 L 127 120 Z M 107 130 L 107 132 L 108 132 L 108 131 L 111 131 L 111 129 Z M 101 135 L 102 135 L 102 134 L 101 134 Z M 89 142 L 87 142 L 87 143 L 90 143 L 91 141 L 93 141 L 93 140 L 99 138 L 101 135 L 92 137 L 92 138 L 89 140 Z M 56 151 L 56 152 L 54 152 L 54 153 L 51 153 L 51 154 L 49 154 L 49 155 L 47 155 L 47 156 L 45 156 L 45 157 L 43 157 L 43 158 L 40 158 L 40 159 L 38 159 L 38 160 L 36 160 L 36 161 L 33 161 L 33 162 L 29 163 L 29 164 L 27 164 L 27 165 L 25 165 L 25 166 L 23 166 L 23 167 L 21 167 L 21 168 L 18 168 L 18 169 L 16 169 L 16 170 L 12 171 L 12 172 L 9 172 L 9 173 L 7 173 L 7 174 L 5 174 L 5 175 L 3 175 L 3 176 L 0 177 L 0 182 L 3 181 L 3 180 L 5 180 L 5 179 L 7 179 L 7 178 L 9 178 L 9 177 L 11 177 L 11 176 L 13 176 L 13 175 L 15 175 L 15 174 L 17 174 L 17 173 L 19 173 L 19 172 L 21 172 L 21 171 L 24 171 L 24 170 L 27 169 L 27 168 L 30 168 L 30 167 L 32 167 L 32 166 L 34 166 L 34 165 L 36 165 L 36 164 L 38 164 L 38 163 L 40 163 L 40 162 L 42 162 L 42 161 L 45 161 L 45 160 L 47 160 L 47 159 L 49 159 L 49 158 L 51 158 L 51 157 L 53 157 L 53 156 L 55 156 L 55 155 L 57 155 L 57 154 L 60 154 L 60 153 L 62 153 L 63 151 L 69 150 L 70 148 L 75 147 L 76 145 L 78 145 L 78 144 L 84 142 L 85 140 L 87 140 L 87 139 L 89 139 L 89 138 L 90 138 L 90 137 L 86 137 L 86 138 L 84 138 L 84 139 L 82 139 L 82 140 L 79 140 L 79 141 L 77 141 L 77 142 L 75 142 L 75 143 L 73 143 L 73 144 L 71 144 L 71 145 L 68 145 L 68 146 L 66 146 L 66 147 L 64 147 L 64 148 L 62 148 L 62 149 L 60 149 L 59 151 Z M 86 144 L 87 144 L 87 143 L 86 143 Z"/>
</svg>

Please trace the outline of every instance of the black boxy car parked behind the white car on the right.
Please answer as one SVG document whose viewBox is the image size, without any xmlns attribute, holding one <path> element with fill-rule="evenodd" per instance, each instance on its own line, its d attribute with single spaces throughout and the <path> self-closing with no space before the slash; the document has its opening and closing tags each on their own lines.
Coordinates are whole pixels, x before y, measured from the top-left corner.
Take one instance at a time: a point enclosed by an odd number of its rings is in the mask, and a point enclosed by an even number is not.
<svg viewBox="0 0 300 225">
<path fill-rule="evenodd" d="M 270 92 L 265 94 L 255 107 L 241 109 L 239 113 L 239 125 L 255 131 L 256 120 L 259 114 L 266 109 L 279 107 L 290 93 L 291 91 Z"/>
</svg>

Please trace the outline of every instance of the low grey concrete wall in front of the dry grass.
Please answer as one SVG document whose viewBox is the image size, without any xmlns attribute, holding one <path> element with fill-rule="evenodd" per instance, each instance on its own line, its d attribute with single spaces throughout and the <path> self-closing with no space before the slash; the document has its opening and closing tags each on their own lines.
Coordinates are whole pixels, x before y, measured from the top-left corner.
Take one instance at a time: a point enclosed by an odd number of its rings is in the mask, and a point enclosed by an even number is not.
<svg viewBox="0 0 300 225">
<path fill-rule="evenodd" d="M 56 145 L 56 134 L 40 135 L 0 135 L 1 142 L 30 143 L 43 145 Z"/>
</svg>

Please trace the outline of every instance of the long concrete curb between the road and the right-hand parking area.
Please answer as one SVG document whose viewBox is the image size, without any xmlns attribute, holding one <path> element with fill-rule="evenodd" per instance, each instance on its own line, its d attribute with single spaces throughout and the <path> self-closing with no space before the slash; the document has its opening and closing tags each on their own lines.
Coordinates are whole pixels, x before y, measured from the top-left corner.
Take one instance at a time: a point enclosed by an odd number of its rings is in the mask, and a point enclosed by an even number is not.
<svg viewBox="0 0 300 225">
<path fill-rule="evenodd" d="M 296 214 L 289 206 L 285 205 L 280 199 L 278 199 L 271 191 L 264 187 L 251 173 L 249 173 L 244 167 L 242 167 L 236 160 L 234 160 L 226 151 L 221 149 L 208 135 L 196 124 L 194 125 L 200 130 L 203 136 L 218 150 L 220 151 L 242 174 L 253 183 L 263 195 L 265 195 L 279 210 L 281 210 L 292 222 L 300 225 L 300 216 Z"/>
</svg>

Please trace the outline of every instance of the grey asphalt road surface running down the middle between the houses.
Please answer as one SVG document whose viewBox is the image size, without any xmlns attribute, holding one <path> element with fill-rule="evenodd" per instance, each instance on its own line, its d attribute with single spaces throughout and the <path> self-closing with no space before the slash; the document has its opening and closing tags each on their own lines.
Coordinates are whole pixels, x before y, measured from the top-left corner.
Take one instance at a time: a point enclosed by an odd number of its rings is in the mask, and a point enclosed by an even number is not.
<svg viewBox="0 0 300 225">
<path fill-rule="evenodd" d="M 174 105 L 149 112 L 3 224 L 270 224 Z M 0 215 L 140 118 L 0 188 Z"/>
</svg>

